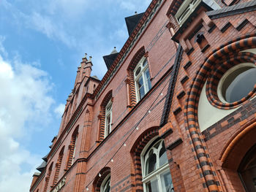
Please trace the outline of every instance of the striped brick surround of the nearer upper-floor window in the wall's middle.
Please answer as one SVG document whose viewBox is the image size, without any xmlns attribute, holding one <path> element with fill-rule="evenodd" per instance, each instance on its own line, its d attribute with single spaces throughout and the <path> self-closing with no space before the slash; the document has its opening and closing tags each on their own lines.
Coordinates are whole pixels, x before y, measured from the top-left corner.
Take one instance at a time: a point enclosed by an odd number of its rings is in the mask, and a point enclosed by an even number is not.
<svg viewBox="0 0 256 192">
<path fill-rule="evenodd" d="M 137 103 L 136 92 L 135 92 L 135 77 L 133 70 L 137 66 L 140 59 L 145 55 L 145 47 L 140 47 L 140 50 L 133 56 L 131 63 L 127 68 L 128 79 L 129 79 L 129 101 L 130 106 L 133 107 Z"/>
</svg>

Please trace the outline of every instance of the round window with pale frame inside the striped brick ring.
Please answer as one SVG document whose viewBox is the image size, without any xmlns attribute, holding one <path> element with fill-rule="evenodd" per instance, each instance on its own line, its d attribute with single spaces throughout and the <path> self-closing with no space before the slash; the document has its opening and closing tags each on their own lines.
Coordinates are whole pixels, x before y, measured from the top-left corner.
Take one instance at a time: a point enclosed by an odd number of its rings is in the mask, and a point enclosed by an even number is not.
<svg viewBox="0 0 256 192">
<path fill-rule="evenodd" d="M 254 64 L 239 64 L 227 70 L 219 83 L 220 100 L 227 103 L 239 101 L 253 90 L 256 83 Z"/>
</svg>

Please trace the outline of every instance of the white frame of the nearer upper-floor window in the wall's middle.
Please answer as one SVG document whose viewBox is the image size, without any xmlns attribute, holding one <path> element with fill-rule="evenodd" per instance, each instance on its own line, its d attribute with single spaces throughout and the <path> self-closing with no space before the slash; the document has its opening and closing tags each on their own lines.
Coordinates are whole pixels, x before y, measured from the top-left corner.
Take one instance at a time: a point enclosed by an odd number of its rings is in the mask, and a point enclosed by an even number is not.
<svg viewBox="0 0 256 192">
<path fill-rule="evenodd" d="M 148 61 L 146 60 L 147 58 L 143 57 L 140 59 L 140 61 L 138 62 L 137 66 L 135 67 L 133 73 L 134 73 L 134 79 L 135 79 L 135 91 L 136 91 L 136 100 L 137 102 L 140 101 L 140 92 L 139 92 L 139 88 L 138 88 L 138 80 L 140 77 L 143 78 L 143 88 L 144 88 L 144 96 L 146 95 L 146 93 L 148 93 L 149 89 L 151 88 L 151 85 L 148 85 L 148 79 L 146 78 L 146 70 L 148 70 L 148 74 L 149 74 L 149 69 L 148 69 Z M 146 65 L 143 66 L 144 61 L 146 61 Z M 138 73 L 138 75 L 136 75 L 136 72 L 138 70 L 138 68 L 140 68 L 140 72 Z M 149 74 L 150 76 L 150 74 Z M 150 78 L 150 77 L 149 77 Z M 149 88 L 150 86 L 150 88 Z"/>
</svg>

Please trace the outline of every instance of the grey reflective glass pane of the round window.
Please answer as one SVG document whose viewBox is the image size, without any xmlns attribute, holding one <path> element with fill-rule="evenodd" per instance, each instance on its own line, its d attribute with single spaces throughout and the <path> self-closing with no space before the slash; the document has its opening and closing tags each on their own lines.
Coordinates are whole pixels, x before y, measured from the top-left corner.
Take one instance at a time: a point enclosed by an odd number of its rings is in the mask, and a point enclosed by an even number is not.
<svg viewBox="0 0 256 192">
<path fill-rule="evenodd" d="M 235 71 L 236 72 L 236 71 Z M 236 74 L 235 74 L 236 75 Z M 233 76 L 233 74 L 230 74 Z M 253 90 L 256 83 L 256 68 L 238 74 L 227 87 L 225 99 L 229 103 L 239 101 Z"/>
</svg>

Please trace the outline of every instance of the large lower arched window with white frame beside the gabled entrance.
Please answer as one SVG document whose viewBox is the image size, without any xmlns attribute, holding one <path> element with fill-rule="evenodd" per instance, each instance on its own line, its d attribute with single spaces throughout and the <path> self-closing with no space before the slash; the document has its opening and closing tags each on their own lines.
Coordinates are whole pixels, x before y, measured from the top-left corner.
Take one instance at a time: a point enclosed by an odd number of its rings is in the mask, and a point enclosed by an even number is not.
<svg viewBox="0 0 256 192">
<path fill-rule="evenodd" d="M 141 153 L 143 189 L 146 192 L 173 192 L 167 154 L 163 139 L 154 139 Z"/>
</svg>

